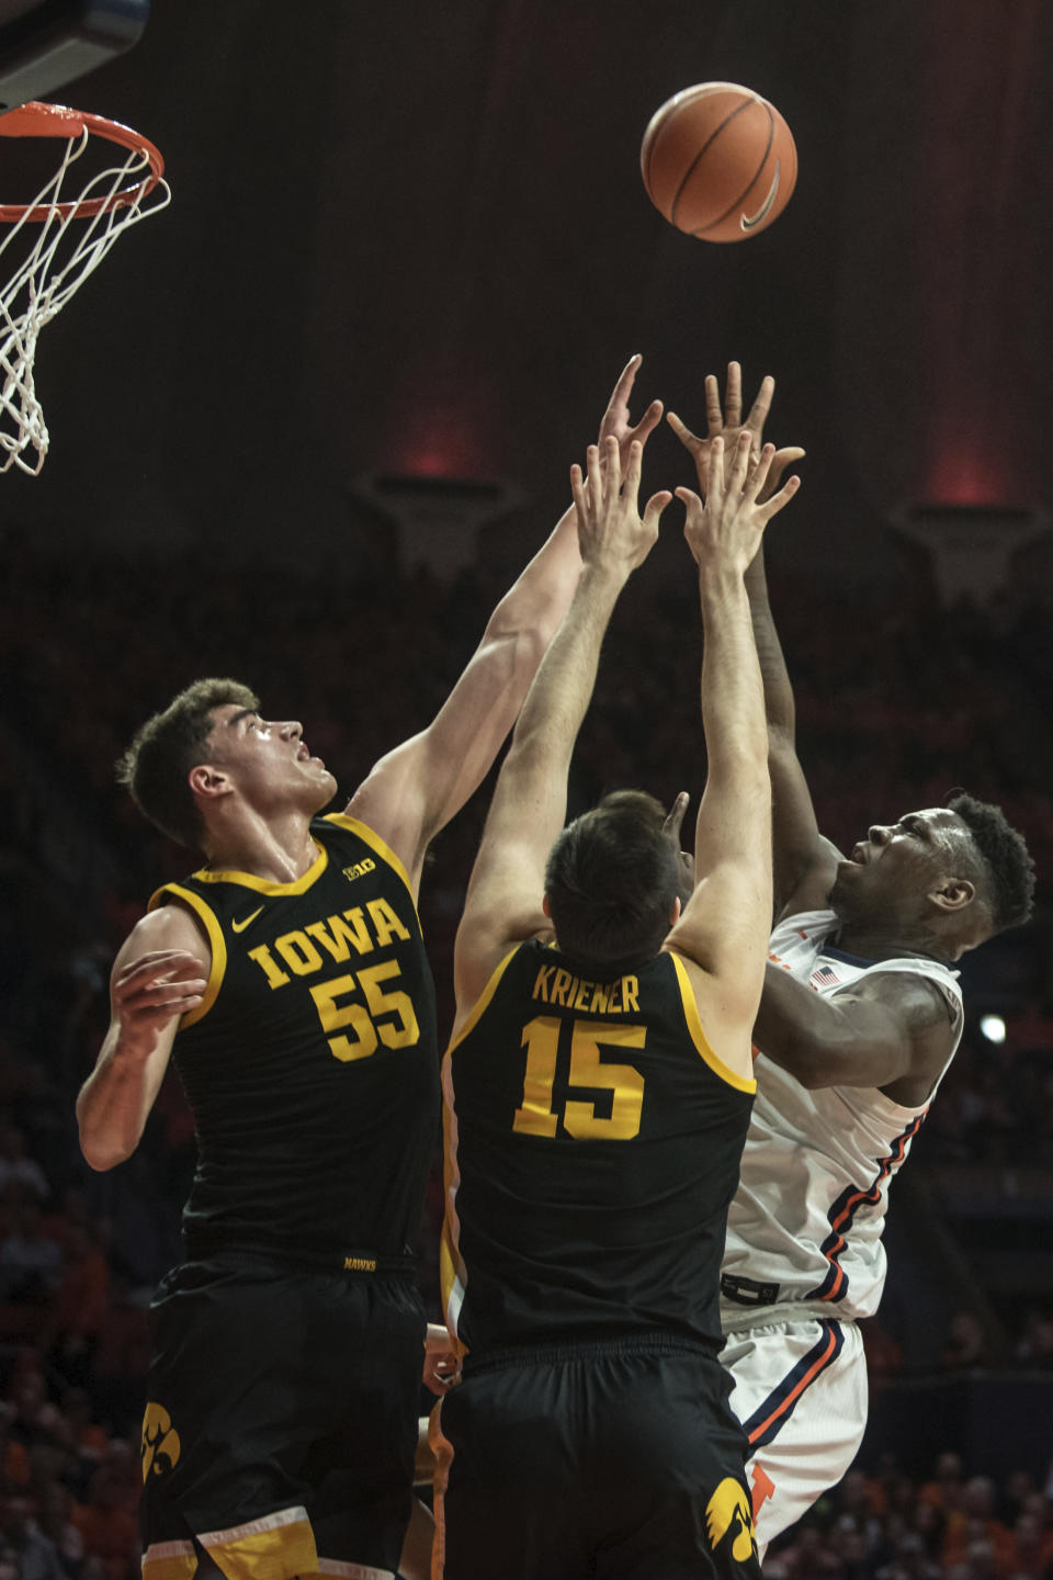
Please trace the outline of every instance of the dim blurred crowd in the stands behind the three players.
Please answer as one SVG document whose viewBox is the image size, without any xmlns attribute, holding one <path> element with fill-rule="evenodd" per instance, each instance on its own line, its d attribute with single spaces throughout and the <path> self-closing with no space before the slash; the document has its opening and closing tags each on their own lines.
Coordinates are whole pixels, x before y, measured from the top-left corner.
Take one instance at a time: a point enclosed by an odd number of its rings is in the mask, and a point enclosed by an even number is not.
<svg viewBox="0 0 1053 1580">
<path fill-rule="evenodd" d="M 164 564 L 69 562 L 16 536 L 0 542 L 0 1580 L 134 1571 L 147 1305 L 178 1259 L 194 1163 L 174 1074 L 129 1163 L 93 1176 L 77 1150 L 73 1103 L 106 1030 L 114 951 L 152 890 L 193 866 L 129 806 L 114 760 L 182 686 L 234 675 L 272 717 L 302 719 L 311 750 L 354 790 L 434 714 L 510 575 L 499 551 L 448 586 L 425 570 L 395 575 L 382 555 L 355 559 L 352 578 L 333 566 L 226 564 L 221 545 L 207 562 Z M 963 785 L 999 801 L 1031 844 L 1036 920 L 969 964 L 977 1014 L 916 1158 L 1053 1174 L 1048 610 L 1023 597 L 942 610 L 917 575 L 846 592 L 777 562 L 770 581 L 823 830 L 851 847 L 870 822 Z M 624 784 L 665 801 L 699 793 L 699 656 L 691 586 L 641 574 L 608 637 L 571 812 Z M 425 874 L 445 1024 L 483 812 L 485 793 Z M 979 1011 L 1001 1018 L 1002 1041 L 982 1033 Z M 440 1207 L 436 1174 L 422 1272 L 433 1311 Z M 868 1343 L 875 1376 L 909 1370 L 878 1324 Z M 941 1365 L 990 1359 L 972 1313 L 958 1313 Z M 1018 1302 L 1009 1359 L 1053 1368 L 1042 1291 Z M 1051 1488 L 1012 1466 L 998 1485 L 982 1482 L 954 1458 L 924 1485 L 892 1463 L 853 1473 L 772 1550 L 766 1575 L 1051 1580 Z"/>
</svg>

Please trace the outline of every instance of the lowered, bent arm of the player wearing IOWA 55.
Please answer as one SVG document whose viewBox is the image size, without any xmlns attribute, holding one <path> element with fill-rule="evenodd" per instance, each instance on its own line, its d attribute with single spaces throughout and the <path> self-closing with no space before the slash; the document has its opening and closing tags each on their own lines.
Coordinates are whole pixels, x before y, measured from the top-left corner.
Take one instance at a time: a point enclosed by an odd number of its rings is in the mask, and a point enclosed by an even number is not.
<svg viewBox="0 0 1053 1580">
<path fill-rule="evenodd" d="M 77 1097 L 81 1150 L 93 1169 L 112 1169 L 139 1146 L 180 1016 L 202 1002 L 208 969 L 208 945 L 182 905 L 150 912 L 122 945 L 109 1032 Z"/>
</svg>

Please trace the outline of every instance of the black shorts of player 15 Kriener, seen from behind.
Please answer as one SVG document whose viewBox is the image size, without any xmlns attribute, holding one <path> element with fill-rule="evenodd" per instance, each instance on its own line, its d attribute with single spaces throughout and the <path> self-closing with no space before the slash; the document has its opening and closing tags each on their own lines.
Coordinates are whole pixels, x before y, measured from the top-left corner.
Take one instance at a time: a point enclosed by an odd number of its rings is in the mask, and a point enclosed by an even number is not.
<svg viewBox="0 0 1053 1580">
<path fill-rule="evenodd" d="M 433 1413 L 444 1580 L 759 1580 L 729 1381 L 625 1338 L 466 1365 Z"/>
</svg>

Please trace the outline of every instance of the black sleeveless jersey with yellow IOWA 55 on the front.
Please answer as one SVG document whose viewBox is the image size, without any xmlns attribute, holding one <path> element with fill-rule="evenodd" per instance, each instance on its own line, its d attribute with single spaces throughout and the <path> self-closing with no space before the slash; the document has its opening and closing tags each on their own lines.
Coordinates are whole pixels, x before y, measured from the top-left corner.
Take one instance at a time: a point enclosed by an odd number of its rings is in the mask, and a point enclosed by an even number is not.
<svg viewBox="0 0 1053 1580">
<path fill-rule="evenodd" d="M 189 1255 L 262 1250 L 373 1272 L 420 1231 L 437 1138 L 436 999 L 406 869 L 354 818 L 311 822 L 294 883 L 169 883 L 212 943 L 175 1036 L 197 1128 Z M 373 1266 L 371 1266 L 373 1264 Z"/>
</svg>

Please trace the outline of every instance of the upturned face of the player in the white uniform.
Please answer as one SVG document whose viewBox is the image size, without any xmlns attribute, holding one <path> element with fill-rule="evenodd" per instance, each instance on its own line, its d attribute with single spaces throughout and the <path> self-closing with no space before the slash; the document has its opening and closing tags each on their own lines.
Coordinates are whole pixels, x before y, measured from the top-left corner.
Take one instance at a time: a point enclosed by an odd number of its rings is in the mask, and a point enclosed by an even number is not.
<svg viewBox="0 0 1053 1580">
<path fill-rule="evenodd" d="M 933 888 L 968 875 L 971 837 L 958 814 L 942 806 L 873 823 L 840 863 L 830 905 L 843 918 L 922 918 Z"/>
</svg>

